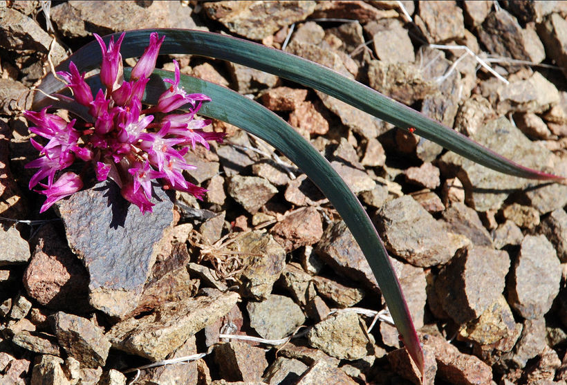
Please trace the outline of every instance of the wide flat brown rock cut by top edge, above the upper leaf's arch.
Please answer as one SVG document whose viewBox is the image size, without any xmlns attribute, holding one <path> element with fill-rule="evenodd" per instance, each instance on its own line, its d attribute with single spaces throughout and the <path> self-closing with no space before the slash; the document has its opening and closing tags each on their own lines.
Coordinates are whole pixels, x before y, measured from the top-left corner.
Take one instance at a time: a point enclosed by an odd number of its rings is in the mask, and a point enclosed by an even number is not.
<svg viewBox="0 0 567 385">
<path fill-rule="evenodd" d="M 306 19 L 315 10 L 315 1 L 211 1 L 203 8 L 208 17 L 231 32 L 261 40 Z"/>
</svg>

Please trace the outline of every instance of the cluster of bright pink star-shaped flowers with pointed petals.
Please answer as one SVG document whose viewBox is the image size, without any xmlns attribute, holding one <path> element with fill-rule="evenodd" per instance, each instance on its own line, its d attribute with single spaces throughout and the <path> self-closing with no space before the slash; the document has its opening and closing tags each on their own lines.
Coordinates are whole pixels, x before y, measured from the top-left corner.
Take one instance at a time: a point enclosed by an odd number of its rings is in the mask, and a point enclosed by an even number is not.
<svg viewBox="0 0 567 385">
<path fill-rule="evenodd" d="M 47 197 L 40 212 L 82 189 L 81 175 L 71 171 L 62 173 L 77 158 L 93 165 L 97 180 L 110 178 L 116 182 L 122 196 L 140 207 L 142 213 L 151 212 L 154 206 L 151 203 L 154 180 L 165 189 L 186 191 L 201 198 L 206 190 L 183 177 L 183 170 L 195 168 L 188 165 L 183 156 L 189 146 L 194 149 L 196 143 L 209 149 L 207 141 L 223 140 L 223 133 L 203 131 L 210 120 L 194 119 L 201 103 L 210 98 L 186 93 L 179 87 L 179 65 L 174 61 L 175 79 L 165 80 L 171 86 L 160 96 L 156 106 L 143 109 L 142 95 L 165 37 L 160 39 L 156 32 L 150 35 L 149 46 L 132 69 L 129 82 L 124 82 L 122 76 L 120 44 L 124 34 L 116 42 L 111 38 L 108 48 L 100 36 L 95 35 L 95 38 L 102 49 L 100 79 L 106 91 L 99 90 L 93 97 L 90 86 L 84 81 L 84 73 L 80 74 L 73 62 L 69 64 L 70 72 L 57 73 L 73 90 L 75 101 L 89 109 L 92 122 L 77 128 L 76 119 L 67 122 L 47 113 L 50 107 L 24 113 L 35 124 L 30 131 L 48 140 L 41 145 L 31 139 L 41 158 L 26 165 L 26 168 L 39 169 L 29 187 L 32 189 L 38 183 L 44 187 L 36 190 Z M 167 114 L 187 104 L 188 112 Z M 44 178 L 47 184 L 40 183 Z"/>
</svg>

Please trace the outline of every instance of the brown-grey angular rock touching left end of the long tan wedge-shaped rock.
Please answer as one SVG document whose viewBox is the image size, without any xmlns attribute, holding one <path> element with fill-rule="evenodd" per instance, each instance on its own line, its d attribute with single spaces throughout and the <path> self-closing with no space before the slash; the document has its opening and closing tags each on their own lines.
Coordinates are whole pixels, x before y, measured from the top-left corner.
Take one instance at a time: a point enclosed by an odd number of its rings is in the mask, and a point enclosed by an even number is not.
<svg viewBox="0 0 567 385">
<path fill-rule="evenodd" d="M 55 335 L 65 352 L 86 368 L 104 366 L 111 344 L 104 332 L 92 321 L 73 314 L 53 315 Z"/>
</svg>

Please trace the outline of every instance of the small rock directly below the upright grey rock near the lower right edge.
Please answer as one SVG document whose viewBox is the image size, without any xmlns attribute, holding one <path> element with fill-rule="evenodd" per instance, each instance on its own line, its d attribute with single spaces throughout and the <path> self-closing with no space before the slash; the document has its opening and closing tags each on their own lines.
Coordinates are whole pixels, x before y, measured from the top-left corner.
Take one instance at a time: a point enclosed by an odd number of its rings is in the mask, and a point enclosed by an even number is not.
<svg viewBox="0 0 567 385">
<path fill-rule="evenodd" d="M 546 320 L 543 318 L 526 319 L 523 321 L 523 330 L 511 361 L 523 368 L 532 359 L 539 355 L 546 347 Z"/>
</svg>

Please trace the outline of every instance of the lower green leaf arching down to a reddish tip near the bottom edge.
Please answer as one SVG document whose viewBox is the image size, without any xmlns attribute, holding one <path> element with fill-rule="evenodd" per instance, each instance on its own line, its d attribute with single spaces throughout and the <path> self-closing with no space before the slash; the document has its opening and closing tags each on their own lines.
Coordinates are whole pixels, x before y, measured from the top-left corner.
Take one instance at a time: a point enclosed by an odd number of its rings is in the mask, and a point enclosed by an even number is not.
<svg viewBox="0 0 567 385">
<path fill-rule="evenodd" d="M 129 68 L 124 69 L 125 77 L 129 76 L 129 72 Z M 173 76 L 174 74 L 169 71 L 154 71 L 147 85 L 144 101 L 148 104 L 156 104 L 159 95 L 169 86 L 162 79 L 173 79 Z M 380 285 L 396 327 L 411 357 L 421 368 L 423 356 L 419 339 L 388 253 L 368 214 L 337 171 L 292 126 L 261 104 L 218 84 L 187 75 L 181 75 L 180 86 L 190 90 L 191 93 L 204 93 L 212 99 L 212 102 L 203 104 L 199 115 L 234 124 L 266 140 L 295 163 L 319 187 L 342 216 L 360 245 Z"/>
</svg>

